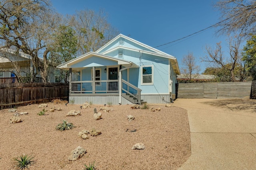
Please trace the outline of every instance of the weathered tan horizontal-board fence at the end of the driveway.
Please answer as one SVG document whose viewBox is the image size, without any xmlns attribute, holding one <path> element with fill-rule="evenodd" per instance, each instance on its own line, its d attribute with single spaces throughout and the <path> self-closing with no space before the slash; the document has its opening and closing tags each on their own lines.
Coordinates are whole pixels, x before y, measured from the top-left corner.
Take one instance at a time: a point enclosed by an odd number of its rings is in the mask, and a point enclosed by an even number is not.
<svg viewBox="0 0 256 170">
<path fill-rule="evenodd" d="M 250 98 L 252 82 L 179 83 L 178 98 Z"/>
</svg>

